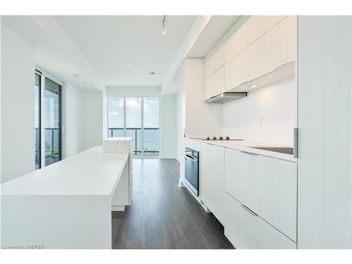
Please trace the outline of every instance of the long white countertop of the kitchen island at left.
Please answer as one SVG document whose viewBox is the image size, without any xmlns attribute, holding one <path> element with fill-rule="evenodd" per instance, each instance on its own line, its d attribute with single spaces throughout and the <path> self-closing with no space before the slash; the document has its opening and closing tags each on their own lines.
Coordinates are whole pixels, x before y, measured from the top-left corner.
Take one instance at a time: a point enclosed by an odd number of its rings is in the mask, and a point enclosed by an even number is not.
<svg viewBox="0 0 352 264">
<path fill-rule="evenodd" d="M 102 153 L 95 146 L 1 184 L 1 195 L 111 196 L 127 159 L 128 153 Z"/>
</svg>

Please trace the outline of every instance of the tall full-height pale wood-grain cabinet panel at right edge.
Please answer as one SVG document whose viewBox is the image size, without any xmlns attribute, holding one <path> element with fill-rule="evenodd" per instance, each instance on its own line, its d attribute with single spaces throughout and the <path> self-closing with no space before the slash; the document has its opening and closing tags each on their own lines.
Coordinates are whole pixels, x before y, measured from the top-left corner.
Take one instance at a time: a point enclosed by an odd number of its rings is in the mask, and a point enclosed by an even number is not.
<svg viewBox="0 0 352 264">
<path fill-rule="evenodd" d="M 298 16 L 298 249 L 351 249 L 352 18 Z"/>
</svg>

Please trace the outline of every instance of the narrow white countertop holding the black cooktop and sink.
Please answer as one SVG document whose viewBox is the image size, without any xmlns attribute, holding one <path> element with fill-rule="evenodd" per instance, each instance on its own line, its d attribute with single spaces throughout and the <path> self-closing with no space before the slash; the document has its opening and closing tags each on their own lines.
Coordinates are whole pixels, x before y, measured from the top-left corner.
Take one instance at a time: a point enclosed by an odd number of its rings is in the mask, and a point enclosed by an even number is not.
<svg viewBox="0 0 352 264">
<path fill-rule="evenodd" d="M 217 146 L 224 146 L 225 148 L 229 149 L 237 149 L 239 151 L 246 151 L 249 153 L 255 153 L 261 156 L 267 156 L 270 158 L 279 158 L 284 161 L 291 161 L 296 163 L 297 158 L 294 158 L 293 155 L 279 153 L 274 151 L 265 151 L 263 149 L 253 149 L 251 146 L 270 146 L 270 147 L 289 147 L 289 146 L 282 146 L 272 143 L 265 143 L 265 142 L 252 142 L 249 140 L 201 140 L 192 137 L 187 137 L 187 139 L 191 139 L 197 142 L 203 142 L 207 144 L 213 144 Z"/>
</svg>

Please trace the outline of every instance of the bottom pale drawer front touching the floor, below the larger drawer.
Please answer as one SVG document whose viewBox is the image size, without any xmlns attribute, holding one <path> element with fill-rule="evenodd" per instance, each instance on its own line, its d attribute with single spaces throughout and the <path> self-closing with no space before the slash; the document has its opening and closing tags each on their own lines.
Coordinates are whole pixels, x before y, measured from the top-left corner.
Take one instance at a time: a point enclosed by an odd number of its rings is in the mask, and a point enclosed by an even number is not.
<svg viewBox="0 0 352 264">
<path fill-rule="evenodd" d="M 296 243 L 226 195 L 225 236 L 236 249 L 296 249 Z"/>
</svg>

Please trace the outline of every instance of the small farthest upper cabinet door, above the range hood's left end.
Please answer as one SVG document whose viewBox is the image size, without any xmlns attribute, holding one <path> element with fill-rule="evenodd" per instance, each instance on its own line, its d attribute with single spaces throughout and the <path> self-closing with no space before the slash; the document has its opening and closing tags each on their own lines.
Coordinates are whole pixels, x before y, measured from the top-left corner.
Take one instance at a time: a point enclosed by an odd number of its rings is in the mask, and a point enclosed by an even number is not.
<svg viewBox="0 0 352 264">
<path fill-rule="evenodd" d="M 204 100 L 225 92 L 225 67 L 215 71 L 204 80 Z"/>
</svg>

